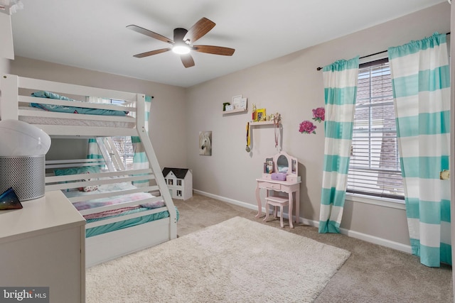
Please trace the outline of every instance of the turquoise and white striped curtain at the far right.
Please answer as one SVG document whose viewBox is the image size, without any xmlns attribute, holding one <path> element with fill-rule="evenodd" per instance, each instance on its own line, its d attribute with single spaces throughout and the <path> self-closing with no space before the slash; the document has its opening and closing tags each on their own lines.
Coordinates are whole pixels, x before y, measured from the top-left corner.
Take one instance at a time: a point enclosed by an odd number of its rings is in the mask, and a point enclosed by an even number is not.
<svg viewBox="0 0 455 303">
<path fill-rule="evenodd" d="M 431 267 L 451 264 L 450 76 L 446 35 L 389 48 L 398 147 L 412 253 Z"/>
</svg>

